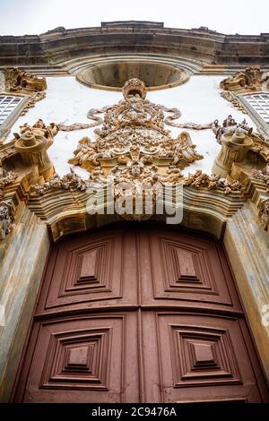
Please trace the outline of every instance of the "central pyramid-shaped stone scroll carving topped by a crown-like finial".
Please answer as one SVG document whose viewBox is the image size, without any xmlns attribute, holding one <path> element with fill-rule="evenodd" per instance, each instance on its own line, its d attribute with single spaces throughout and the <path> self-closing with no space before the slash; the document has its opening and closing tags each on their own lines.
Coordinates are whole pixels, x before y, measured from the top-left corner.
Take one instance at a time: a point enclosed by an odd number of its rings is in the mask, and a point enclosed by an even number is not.
<svg viewBox="0 0 269 421">
<path fill-rule="evenodd" d="M 105 175 L 110 172 L 119 176 L 122 167 L 134 168 L 137 165 L 136 171 L 142 175 L 152 165 L 165 164 L 170 170 L 174 166 L 185 168 L 189 163 L 203 159 L 187 132 L 179 133 L 173 139 L 170 131 L 165 129 L 165 107 L 145 99 L 143 82 L 137 79 L 126 82 L 123 94 L 124 99 L 118 104 L 102 109 L 105 116 L 102 127 L 95 130 L 95 141 L 83 137 L 69 163 L 90 173 L 94 170 L 94 174 L 97 169 L 110 168 Z M 92 115 L 93 110 L 91 118 Z"/>
</svg>

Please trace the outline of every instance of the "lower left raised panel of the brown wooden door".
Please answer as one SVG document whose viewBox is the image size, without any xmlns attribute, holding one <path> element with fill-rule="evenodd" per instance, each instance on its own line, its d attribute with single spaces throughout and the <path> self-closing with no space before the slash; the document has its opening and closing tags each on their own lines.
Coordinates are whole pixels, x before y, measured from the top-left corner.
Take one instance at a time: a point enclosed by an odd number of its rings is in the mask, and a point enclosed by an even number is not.
<svg viewBox="0 0 269 421">
<path fill-rule="evenodd" d="M 24 402 L 139 401 L 136 314 L 40 322 L 35 331 Z"/>
</svg>

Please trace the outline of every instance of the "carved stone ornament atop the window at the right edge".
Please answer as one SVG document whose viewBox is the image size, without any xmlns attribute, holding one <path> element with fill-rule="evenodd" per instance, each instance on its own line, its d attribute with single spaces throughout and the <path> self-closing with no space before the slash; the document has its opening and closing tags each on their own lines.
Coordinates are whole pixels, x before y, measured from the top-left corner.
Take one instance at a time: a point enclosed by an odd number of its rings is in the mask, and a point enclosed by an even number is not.
<svg viewBox="0 0 269 421">
<path fill-rule="evenodd" d="M 268 80 L 268 74 L 261 71 L 258 66 L 247 67 L 244 72 L 230 75 L 221 81 L 222 90 L 244 91 L 261 90 Z"/>
</svg>

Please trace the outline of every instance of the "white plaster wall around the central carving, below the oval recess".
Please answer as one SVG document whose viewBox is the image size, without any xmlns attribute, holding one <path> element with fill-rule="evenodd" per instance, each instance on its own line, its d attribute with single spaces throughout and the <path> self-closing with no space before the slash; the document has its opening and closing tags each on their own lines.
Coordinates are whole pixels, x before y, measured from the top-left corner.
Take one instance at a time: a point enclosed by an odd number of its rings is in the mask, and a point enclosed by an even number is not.
<svg viewBox="0 0 269 421">
<path fill-rule="evenodd" d="M 196 75 L 190 80 L 176 88 L 169 90 L 156 90 L 149 92 L 147 98 L 156 104 L 163 104 L 167 107 L 178 107 L 182 116 L 178 123 L 205 124 L 218 118 L 221 122 L 229 114 L 241 122 L 247 119 L 249 125 L 254 126 L 251 119 L 243 115 L 239 110 L 232 107 L 230 102 L 220 96 L 219 83 L 225 77 Z M 45 123 L 65 123 L 70 125 L 76 122 L 89 123 L 86 115 L 90 108 L 100 108 L 108 104 L 117 103 L 122 99 L 120 92 L 108 90 L 94 90 L 77 82 L 74 76 L 48 77 L 47 98 L 39 101 L 34 108 L 31 108 L 26 116 L 18 118 L 13 125 L 6 142 L 13 139 L 13 133 L 19 131 L 19 126 L 28 122 L 34 124 L 39 118 Z M 169 130 L 176 137 L 181 129 L 169 127 Z M 93 130 L 85 129 L 74 132 L 59 132 L 56 135 L 54 144 L 49 148 L 48 155 L 55 165 L 56 172 L 64 175 L 69 170 L 67 160 L 73 156 L 78 141 L 82 136 L 93 138 Z M 185 173 L 193 173 L 196 169 L 202 169 L 208 174 L 211 173 L 213 160 L 220 150 L 211 130 L 188 131 L 197 151 L 204 155 L 204 159 L 195 161 L 194 164 L 185 169 Z M 75 171 L 88 178 L 87 172 L 79 167 Z"/>
</svg>

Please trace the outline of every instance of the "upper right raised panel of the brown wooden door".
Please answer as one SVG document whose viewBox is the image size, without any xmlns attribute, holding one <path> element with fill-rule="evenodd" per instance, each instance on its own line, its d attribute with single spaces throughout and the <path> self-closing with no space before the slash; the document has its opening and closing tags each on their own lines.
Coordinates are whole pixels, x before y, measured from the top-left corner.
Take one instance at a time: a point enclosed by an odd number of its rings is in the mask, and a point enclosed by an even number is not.
<svg viewBox="0 0 269 421">
<path fill-rule="evenodd" d="M 140 235 L 143 305 L 180 305 L 239 311 L 221 246 L 182 233 Z"/>
</svg>

